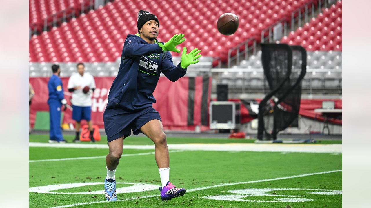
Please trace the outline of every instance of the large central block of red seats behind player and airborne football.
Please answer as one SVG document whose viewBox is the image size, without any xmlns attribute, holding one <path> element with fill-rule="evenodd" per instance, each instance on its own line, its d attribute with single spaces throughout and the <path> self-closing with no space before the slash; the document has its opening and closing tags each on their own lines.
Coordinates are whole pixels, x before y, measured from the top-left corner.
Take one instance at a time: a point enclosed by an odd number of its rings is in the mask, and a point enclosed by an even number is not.
<svg viewBox="0 0 371 208">
<path fill-rule="evenodd" d="M 147 4 L 144 1 L 116 0 L 40 36 L 33 36 L 30 40 L 30 61 L 115 61 L 127 34 L 137 32 L 139 9 L 155 13 L 159 18 L 160 41 L 167 41 L 176 33 L 184 33 L 187 38 L 184 46 L 198 47 L 204 56 L 220 57 L 226 61 L 229 48 L 250 37 L 259 41 L 263 29 L 281 19 L 289 20 L 292 11 L 311 1 L 153 0 L 152 4 Z M 185 8 L 190 9 L 185 12 Z M 239 29 L 233 36 L 224 36 L 216 28 L 217 19 L 226 12 L 236 13 L 240 19 Z"/>
</svg>

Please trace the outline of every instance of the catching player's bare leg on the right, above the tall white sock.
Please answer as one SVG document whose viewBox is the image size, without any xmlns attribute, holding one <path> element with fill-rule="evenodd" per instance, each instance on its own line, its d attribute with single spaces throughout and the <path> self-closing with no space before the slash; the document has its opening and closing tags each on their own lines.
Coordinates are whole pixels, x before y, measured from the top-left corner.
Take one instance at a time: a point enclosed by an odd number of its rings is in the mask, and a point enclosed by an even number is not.
<svg viewBox="0 0 371 208">
<path fill-rule="evenodd" d="M 155 160 L 158 168 L 169 167 L 169 151 L 167 148 L 166 134 L 160 120 L 152 120 L 140 129 L 143 134 L 155 143 Z"/>
</svg>

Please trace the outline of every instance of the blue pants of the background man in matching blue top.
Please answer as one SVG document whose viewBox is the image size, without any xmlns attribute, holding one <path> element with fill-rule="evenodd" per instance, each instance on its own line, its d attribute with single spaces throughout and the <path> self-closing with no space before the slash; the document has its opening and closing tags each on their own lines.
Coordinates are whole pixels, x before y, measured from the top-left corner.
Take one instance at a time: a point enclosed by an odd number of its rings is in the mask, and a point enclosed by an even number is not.
<svg viewBox="0 0 371 208">
<path fill-rule="evenodd" d="M 63 141 L 62 128 L 60 127 L 60 111 L 62 103 L 59 100 L 49 101 L 50 140 Z"/>
</svg>

